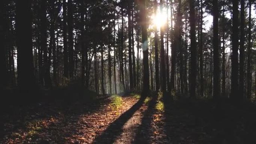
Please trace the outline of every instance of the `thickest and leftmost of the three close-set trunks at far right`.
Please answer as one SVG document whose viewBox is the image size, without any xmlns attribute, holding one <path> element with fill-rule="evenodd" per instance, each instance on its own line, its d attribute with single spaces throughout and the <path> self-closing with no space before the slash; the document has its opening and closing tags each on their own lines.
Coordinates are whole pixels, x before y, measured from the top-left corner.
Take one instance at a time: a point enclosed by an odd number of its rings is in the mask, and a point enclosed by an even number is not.
<svg viewBox="0 0 256 144">
<path fill-rule="evenodd" d="M 232 68 L 231 68 L 231 96 L 238 100 L 238 1 L 232 6 Z"/>
</svg>

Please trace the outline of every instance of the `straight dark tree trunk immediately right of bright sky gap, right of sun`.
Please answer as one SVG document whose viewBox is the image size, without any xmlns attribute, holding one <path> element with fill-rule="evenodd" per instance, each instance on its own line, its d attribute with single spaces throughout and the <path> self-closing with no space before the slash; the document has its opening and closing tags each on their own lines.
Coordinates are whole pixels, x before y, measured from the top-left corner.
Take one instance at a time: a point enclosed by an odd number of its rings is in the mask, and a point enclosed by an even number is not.
<svg viewBox="0 0 256 144">
<path fill-rule="evenodd" d="M 213 0 L 213 98 L 219 99 L 219 37 L 218 37 L 218 0 Z"/>
</svg>

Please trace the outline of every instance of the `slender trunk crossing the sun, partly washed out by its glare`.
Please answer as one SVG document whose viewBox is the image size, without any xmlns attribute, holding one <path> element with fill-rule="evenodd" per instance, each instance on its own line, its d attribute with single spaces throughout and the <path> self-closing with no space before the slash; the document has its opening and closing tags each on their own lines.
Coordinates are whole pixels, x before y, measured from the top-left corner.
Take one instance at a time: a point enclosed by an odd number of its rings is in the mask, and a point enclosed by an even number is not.
<svg viewBox="0 0 256 144">
<path fill-rule="evenodd" d="M 160 12 L 163 12 L 163 6 L 162 6 L 162 0 L 160 0 Z M 164 26 L 161 26 L 160 28 L 160 40 L 161 40 L 161 51 L 160 51 L 160 57 L 161 57 L 161 87 L 162 91 L 166 91 L 166 75 L 165 75 L 165 59 L 164 59 Z"/>
</svg>

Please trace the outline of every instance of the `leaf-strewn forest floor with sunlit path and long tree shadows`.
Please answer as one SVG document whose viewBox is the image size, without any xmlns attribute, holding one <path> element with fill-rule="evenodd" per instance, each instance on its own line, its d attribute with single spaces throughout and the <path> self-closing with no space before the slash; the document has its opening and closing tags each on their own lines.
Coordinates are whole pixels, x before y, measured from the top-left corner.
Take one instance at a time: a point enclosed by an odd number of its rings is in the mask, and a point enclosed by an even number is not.
<svg viewBox="0 0 256 144">
<path fill-rule="evenodd" d="M 256 108 L 155 96 L 9 107 L 0 144 L 255 144 Z M 11 114 L 10 114 L 11 113 Z"/>
</svg>

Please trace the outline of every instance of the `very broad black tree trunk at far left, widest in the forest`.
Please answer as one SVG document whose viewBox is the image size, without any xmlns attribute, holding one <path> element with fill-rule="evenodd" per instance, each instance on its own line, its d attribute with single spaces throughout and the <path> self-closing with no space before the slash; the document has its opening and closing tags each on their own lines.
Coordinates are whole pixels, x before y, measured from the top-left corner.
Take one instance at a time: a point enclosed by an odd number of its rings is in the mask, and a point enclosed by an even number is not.
<svg viewBox="0 0 256 144">
<path fill-rule="evenodd" d="M 16 42 L 18 48 L 18 86 L 31 89 L 36 85 L 32 52 L 31 0 L 16 1 Z M 25 17 L 24 17 L 25 16 Z"/>
</svg>

